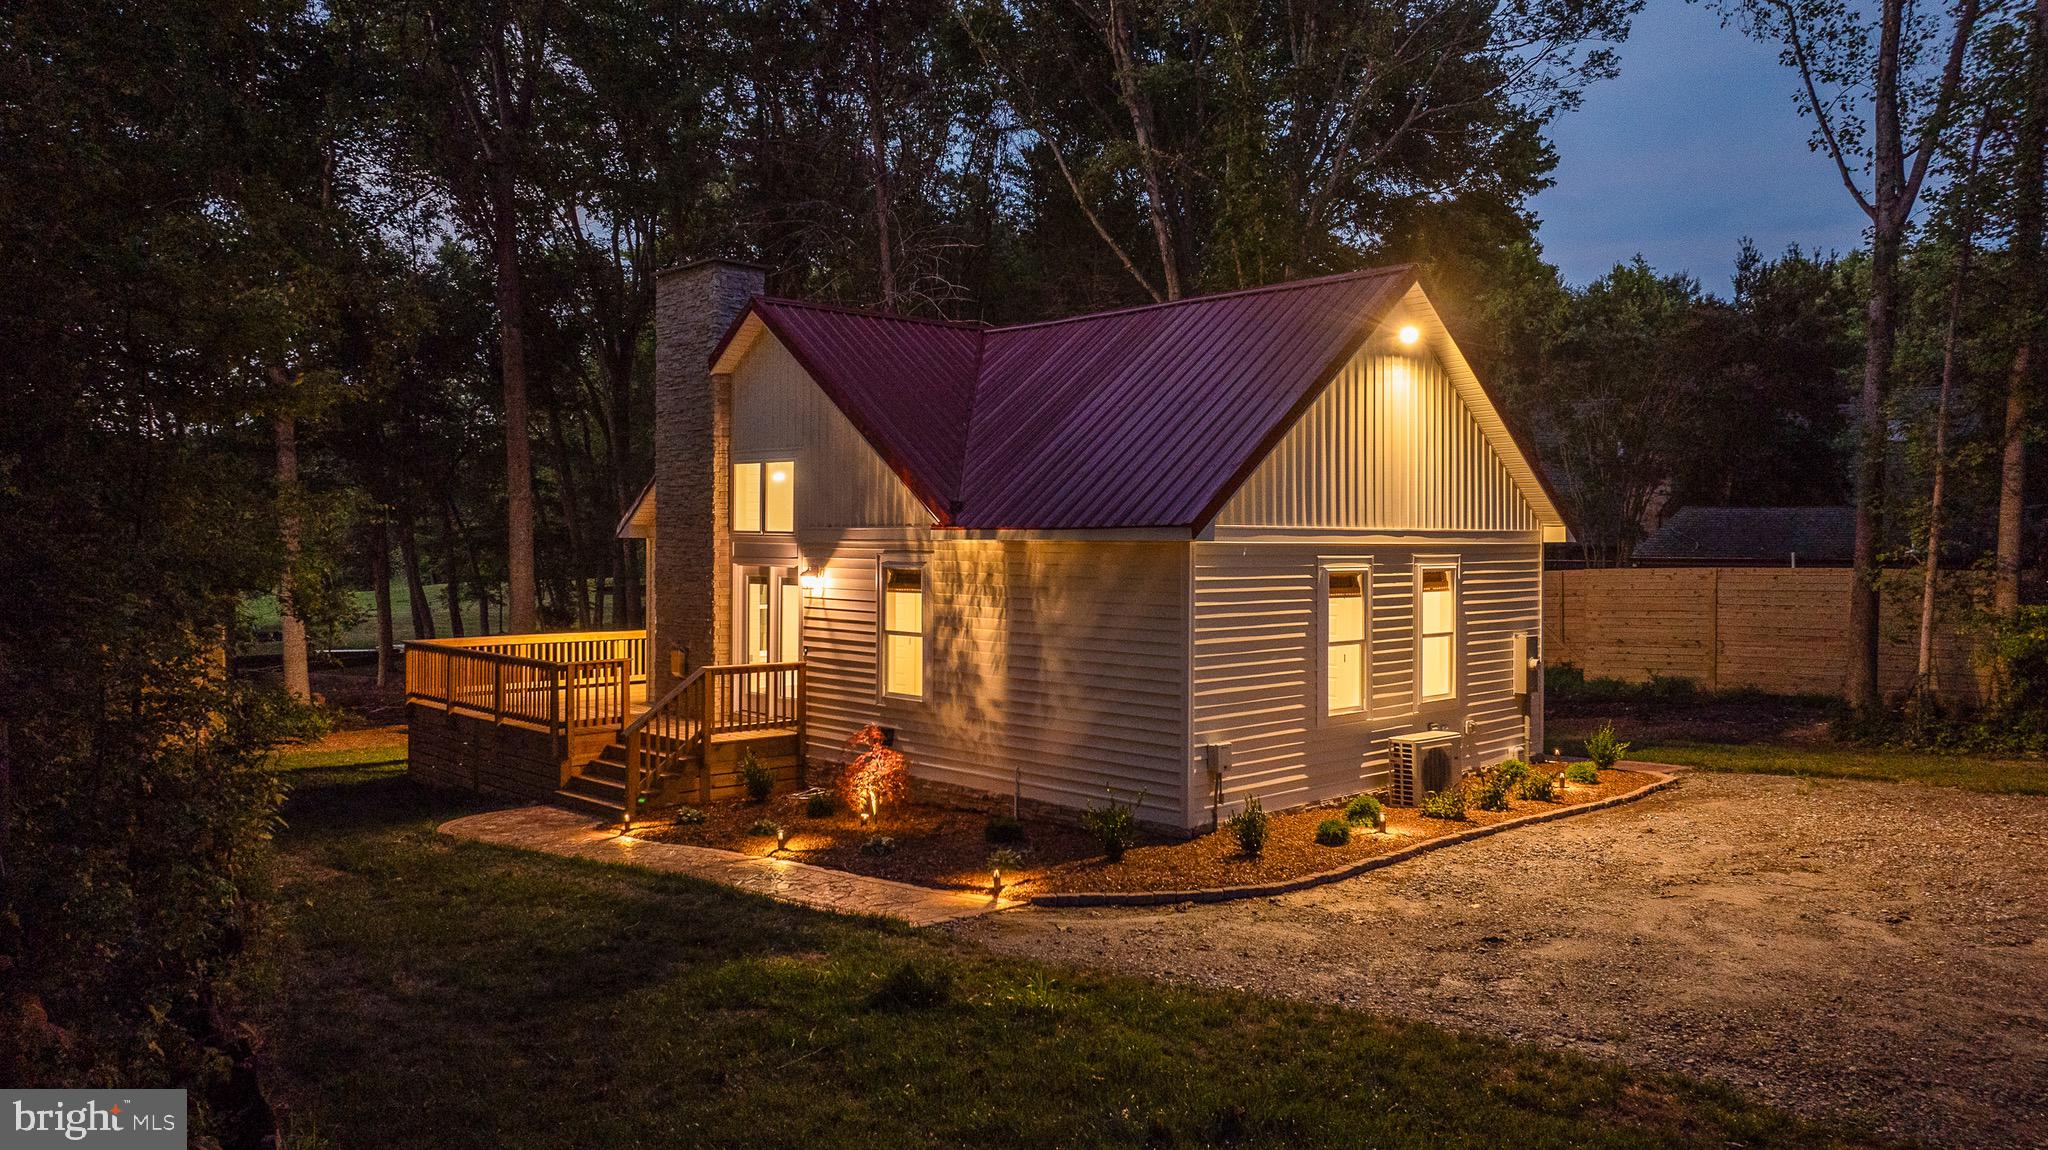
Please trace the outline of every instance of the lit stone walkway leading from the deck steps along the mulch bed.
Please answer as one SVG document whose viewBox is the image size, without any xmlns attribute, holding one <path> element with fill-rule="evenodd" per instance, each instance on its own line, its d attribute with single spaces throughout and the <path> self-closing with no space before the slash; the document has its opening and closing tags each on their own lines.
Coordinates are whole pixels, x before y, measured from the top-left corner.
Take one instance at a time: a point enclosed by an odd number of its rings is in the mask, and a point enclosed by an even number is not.
<svg viewBox="0 0 2048 1150">
<path fill-rule="evenodd" d="M 516 806 L 469 814 L 440 827 L 442 835 L 520 847 L 551 855 L 643 866 L 670 874 L 688 874 L 723 882 L 754 894 L 797 902 L 840 915 L 879 915 L 911 927 L 930 927 L 973 919 L 989 911 L 1016 906 L 1008 898 L 969 894 L 963 890 L 930 890 L 887 878 L 868 878 L 821 866 L 690 847 L 686 843 L 651 843 L 606 831 L 586 814 L 559 806 Z"/>
</svg>

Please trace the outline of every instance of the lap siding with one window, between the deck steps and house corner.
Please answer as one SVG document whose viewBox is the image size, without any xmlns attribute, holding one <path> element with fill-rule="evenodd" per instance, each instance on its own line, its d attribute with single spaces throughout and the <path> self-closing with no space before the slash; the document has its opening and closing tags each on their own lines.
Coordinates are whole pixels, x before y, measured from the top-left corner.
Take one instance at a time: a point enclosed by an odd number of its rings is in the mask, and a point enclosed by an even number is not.
<svg viewBox="0 0 2048 1150">
<path fill-rule="evenodd" d="M 1143 794 L 1147 821 L 1182 823 L 1188 544 L 862 530 L 799 546 L 823 575 L 803 622 L 811 761 L 881 722 L 915 778 L 1067 808 L 1114 788 Z M 881 694 L 885 561 L 926 571 L 922 700 Z"/>
</svg>

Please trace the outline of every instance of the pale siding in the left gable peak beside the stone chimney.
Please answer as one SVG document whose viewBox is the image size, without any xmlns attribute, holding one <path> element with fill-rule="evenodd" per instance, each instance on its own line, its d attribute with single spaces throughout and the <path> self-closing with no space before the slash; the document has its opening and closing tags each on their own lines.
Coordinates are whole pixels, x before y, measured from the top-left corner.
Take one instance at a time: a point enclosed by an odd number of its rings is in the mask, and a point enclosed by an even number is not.
<svg viewBox="0 0 2048 1150">
<path fill-rule="evenodd" d="M 733 370 L 731 417 L 735 462 L 799 460 L 797 530 L 932 522 L 924 503 L 774 334 L 764 334 Z"/>
</svg>

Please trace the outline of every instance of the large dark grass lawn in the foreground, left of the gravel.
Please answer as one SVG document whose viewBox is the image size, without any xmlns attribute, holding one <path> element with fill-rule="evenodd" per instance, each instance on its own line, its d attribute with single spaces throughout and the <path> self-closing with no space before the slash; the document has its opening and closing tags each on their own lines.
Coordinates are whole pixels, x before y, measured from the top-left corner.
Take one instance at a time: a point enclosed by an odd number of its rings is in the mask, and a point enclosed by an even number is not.
<svg viewBox="0 0 2048 1150">
<path fill-rule="evenodd" d="M 455 843 L 475 802 L 397 767 L 291 782 L 238 997 L 299 1148 L 1841 1144 L 1677 1078 Z"/>
</svg>

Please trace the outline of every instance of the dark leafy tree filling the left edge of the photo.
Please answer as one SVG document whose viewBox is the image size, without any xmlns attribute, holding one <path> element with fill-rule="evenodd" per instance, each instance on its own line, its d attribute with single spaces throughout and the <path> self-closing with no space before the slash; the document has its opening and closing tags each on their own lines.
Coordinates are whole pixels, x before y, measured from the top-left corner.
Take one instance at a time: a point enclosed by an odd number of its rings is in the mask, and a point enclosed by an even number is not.
<svg viewBox="0 0 2048 1150">
<path fill-rule="evenodd" d="M 195 1140 L 254 1144 L 213 1007 L 303 712 L 221 659 L 283 567 L 256 370 L 276 276 L 250 254 L 297 174 L 252 129 L 317 88 L 319 29 L 303 4 L 98 2 L 6 29 L 0 1068 L 178 1082 Z"/>
</svg>

